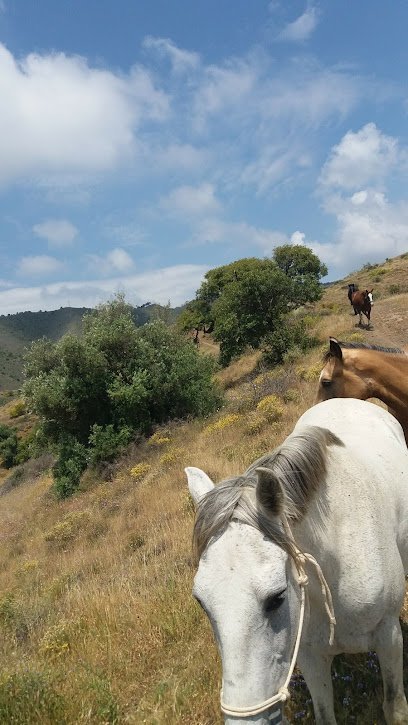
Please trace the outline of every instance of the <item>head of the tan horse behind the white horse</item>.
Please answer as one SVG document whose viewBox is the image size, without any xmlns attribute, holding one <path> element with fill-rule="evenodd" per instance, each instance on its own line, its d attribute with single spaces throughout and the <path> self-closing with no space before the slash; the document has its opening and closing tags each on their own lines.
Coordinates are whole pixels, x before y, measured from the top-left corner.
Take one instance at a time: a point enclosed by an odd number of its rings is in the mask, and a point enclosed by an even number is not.
<svg viewBox="0 0 408 725">
<path fill-rule="evenodd" d="M 334 337 L 330 337 L 330 348 L 324 356 L 324 363 L 320 373 L 316 403 L 329 398 L 366 400 L 369 397 L 367 383 L 354 368 L 352 351 L 343 351 Z"/>
</svg>

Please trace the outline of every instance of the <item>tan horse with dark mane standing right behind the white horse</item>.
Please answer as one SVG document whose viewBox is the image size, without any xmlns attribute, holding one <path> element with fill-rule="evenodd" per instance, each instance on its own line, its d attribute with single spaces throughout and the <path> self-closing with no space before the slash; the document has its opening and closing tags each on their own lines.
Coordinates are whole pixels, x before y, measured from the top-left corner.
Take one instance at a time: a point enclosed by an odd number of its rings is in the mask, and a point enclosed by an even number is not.
<svg viewBox="0 0 408 725">
<path fill-rule="evenodd" d="M 329 398 L 378 398 L 401 423 L 408 445 L 408 355 L 398 348 L 330 338 L 316 403 Z"/>
</svg>

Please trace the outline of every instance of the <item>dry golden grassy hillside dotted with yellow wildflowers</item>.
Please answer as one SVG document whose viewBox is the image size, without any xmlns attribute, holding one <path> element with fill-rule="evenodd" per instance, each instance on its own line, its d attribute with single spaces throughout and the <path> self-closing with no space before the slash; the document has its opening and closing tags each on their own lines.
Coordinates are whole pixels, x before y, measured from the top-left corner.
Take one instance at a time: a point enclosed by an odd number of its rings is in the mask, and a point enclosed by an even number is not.
<svg viewBox="0 0 408 725">
<path fill-rule="evenodd" d="M 408 294 L 387 295 L 390 284 L 408 289 L 408 259 L 383 266 L 378 283 L 369 284 L 374 270 L 350 277 L 374 286 L 373 330 L 355 328 L 343 280 L 311 310 L 322 341 L 407 342 Z M 88 476 L 77 496 L 56 502 L 41 475 L 1 498 L 0 723 L 221 723 L 218 655 L 190 593 L 194 512 L 183 468 L 220 480 L 278 445 L 313 404 L 320 356 L 259 374 L 258 354 L 248 354 L 219 375 L 224 410 L 135 447 L 112 480 Z M 256 411 L 268 394 L 283 404 L 279 422 Z M 336 672 L 339 722 L 382 722 L 375 662 L 349 659 Z M 312 722 L 298 690 L 292 721 L 304 713 Z"/>
</svg>

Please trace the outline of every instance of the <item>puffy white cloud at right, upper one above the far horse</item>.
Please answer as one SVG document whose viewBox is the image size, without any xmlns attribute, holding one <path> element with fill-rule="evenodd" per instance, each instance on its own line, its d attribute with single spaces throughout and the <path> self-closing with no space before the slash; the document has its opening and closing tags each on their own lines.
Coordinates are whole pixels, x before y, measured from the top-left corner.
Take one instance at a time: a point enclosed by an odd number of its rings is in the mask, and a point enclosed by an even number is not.
<svg viewBox="0 0 408 725">
<path fill-rule="evenodd" d="M 367 123 L 354 133 L 348 131 L 334 146 L 323 166 L 323 187 L 358 189 L 364 184 L 381 183 L 389 172 L 404 162 L 405 153 L 397 139 L 382 133 L 374 123 Z"/>
</svg>

